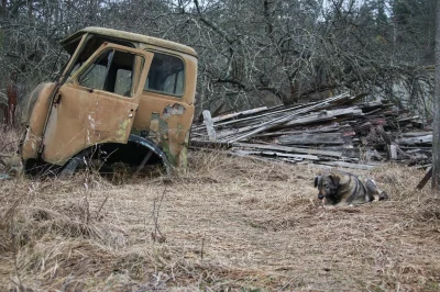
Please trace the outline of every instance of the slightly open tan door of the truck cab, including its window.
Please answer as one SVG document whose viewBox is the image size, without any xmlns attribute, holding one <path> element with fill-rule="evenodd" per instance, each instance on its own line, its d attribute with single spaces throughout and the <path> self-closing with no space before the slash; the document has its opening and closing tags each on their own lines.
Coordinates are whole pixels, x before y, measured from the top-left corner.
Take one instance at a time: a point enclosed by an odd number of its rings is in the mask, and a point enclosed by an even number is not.
<svg viewBox="0 0 440 292">
<path fill-rule="evenodd" d="M 105 43 L 54 97 L 42 158 L 64 165 L 101 143 L 127 143 L 152 53 Z"/>
</svg>

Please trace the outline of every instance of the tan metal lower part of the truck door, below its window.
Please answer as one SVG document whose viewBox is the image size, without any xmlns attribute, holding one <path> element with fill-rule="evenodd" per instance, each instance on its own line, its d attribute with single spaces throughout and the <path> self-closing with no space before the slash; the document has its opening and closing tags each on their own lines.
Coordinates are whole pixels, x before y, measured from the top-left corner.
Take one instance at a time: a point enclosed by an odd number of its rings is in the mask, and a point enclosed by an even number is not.
<svg viewBox="0 0 440 292">
<path fill-rule="evenodd" d="M 63 86 L 44 134 L 43 159 L 64 165 L 80 150 L 99 143 L 127 143 L 138 103 L 111 93 Z M 116 96 L 116 94 L 111 94 Z"/>
</svg>

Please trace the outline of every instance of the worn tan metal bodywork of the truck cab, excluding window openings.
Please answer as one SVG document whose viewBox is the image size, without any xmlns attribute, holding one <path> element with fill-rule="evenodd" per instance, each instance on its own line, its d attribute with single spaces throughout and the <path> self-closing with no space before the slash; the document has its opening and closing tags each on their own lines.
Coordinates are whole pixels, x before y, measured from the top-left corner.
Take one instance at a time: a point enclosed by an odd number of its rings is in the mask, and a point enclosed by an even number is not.
<svg viewBox="0 0 440 292">
<path fill-rule="evenodd" d="M 131 41 L 139 49 L 105 43 L 73 77 L 67 78 L 66 74 L 75 64 L 86 38 L 91 35 Z M 172 165 L 186 166 L 197 82 L 195 50 L 165 40 L 99 27 L 85 29 L 62 41 L 62 44 L 78 42 L 78 37 L 81 40 L 78 45 L 72 46 L 76 50 L 69 52 L 73 57 L 58 79 L 57 92 L 54 92 L 54 83 L 44 90 L 38 89 L 41 92 L 37 90 L 34 109 L 29 106 L 30 111 L 24 119 L 29 124 L 29 131 L 23 142 L 23 159 L 36 158 L 40 150 L 44 161 L 64 165 L 89 146 L 101 143 L 125 144 L 130 134 L 140 134 L 153 141 L 158 149 L 165 153 L 167 161 Z M 107 48 L 106 46 L 142 55 L 145 58 L 142 68 L 142 63 L 136 61 L 133 74 L 140 76 L 142 72 L 142 76 L 133 79 L 132 88 L 138 91 L 132 98 L 85 88 L 76 81 L 81 70 L 95 61 L 96 57 Z M 175 55 L 183 59 L 185 82 L 182 97 L 142 91 L 155 52 Z M 32 115 L 29 114 L 31 112 Z M 40 147 L 42 141 L 44 147 Z"/>
</svg>

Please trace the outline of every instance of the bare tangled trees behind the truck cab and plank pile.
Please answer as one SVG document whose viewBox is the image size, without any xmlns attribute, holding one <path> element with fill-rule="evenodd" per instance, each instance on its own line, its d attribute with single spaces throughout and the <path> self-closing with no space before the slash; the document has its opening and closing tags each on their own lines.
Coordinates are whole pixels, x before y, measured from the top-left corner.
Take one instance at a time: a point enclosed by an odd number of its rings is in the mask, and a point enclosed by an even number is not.
<svg viewBox="0 0 440 292">
<path fill-rule="evenodd" d="M 194 47 L 197 111 L 289 105 L 350 90 L 432 119 L 435 0 L 14 0 L 0 2 L 0 119 L 86 26 Z M 19 106 L 20 108 L 20 106 Z M 7 119 L 8 120 L 8 119 Z"/>
</svg>

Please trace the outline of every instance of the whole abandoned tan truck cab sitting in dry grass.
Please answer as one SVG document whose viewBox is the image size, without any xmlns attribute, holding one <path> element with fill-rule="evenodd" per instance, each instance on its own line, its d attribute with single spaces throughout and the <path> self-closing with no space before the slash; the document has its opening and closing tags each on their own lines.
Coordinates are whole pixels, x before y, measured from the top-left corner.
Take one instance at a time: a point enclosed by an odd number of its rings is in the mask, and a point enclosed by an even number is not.
<svg viewBox="0 0 440 292">
<path fill-rule="evenodd" d="M 23 109 L 24 169 L 55 165 L 72 173 L 90 155 L 138 168 L 186 167 L 197 79 L 193 48 L 102 27 L 61 44 L 69 60 Z"/>
</svg>

